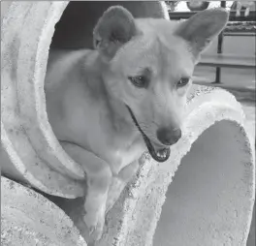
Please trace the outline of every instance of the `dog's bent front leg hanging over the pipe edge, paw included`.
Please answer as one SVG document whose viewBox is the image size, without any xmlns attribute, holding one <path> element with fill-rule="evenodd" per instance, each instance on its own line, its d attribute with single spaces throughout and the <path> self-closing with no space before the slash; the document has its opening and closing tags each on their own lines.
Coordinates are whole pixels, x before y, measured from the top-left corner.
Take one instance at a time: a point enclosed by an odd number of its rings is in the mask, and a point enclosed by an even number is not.
<svg viewBox="0 0 256 246">
<path fill-rule="evenodd" d="M 105 161 L 80 146 L 68 142 L 61 142 L 61 145 L 86 173 L 87 195 L 84 203 L 86 214 L 83 220 L 92 238 L 98 240 L 102 236 L 105 225 L 112 171 Z"/>
</svg>

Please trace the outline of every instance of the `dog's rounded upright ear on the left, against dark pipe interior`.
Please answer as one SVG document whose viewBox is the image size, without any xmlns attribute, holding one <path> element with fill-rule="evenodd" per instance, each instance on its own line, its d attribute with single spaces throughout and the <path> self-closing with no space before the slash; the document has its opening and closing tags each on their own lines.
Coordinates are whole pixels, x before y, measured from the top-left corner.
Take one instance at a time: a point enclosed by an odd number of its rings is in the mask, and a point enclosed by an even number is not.
<svg viewBox="0 0 256 246">
<path fill-rule="evenodd" d="M 137 33 L 133 15 L 121 6 L 109 8 L 93 31 L 93 45 L 107 60 Z"/>
</svg>

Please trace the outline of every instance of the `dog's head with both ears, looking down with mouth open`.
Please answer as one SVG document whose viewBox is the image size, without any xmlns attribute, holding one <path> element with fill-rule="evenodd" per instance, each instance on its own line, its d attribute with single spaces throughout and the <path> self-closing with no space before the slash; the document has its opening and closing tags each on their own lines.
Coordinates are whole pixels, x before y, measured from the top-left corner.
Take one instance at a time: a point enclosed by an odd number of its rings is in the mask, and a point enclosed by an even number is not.
<svg viewBox="0 0 256 246">
<path fill-rule="evenodd" d="M 112 7 L 94 29 L 94 46 L 107 65 L 103 79 L 112 97 L 127 107 L 158 162 L 170 156 L 181 137 L 181 118 L 194 67 L 201 52 L 228 20 L 223 9 L 181 22 L 134 19 Z"/>
</svg>

